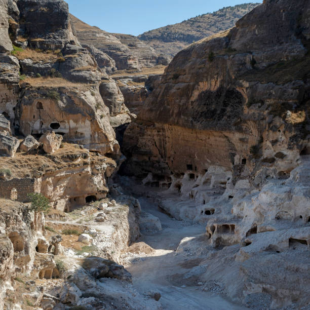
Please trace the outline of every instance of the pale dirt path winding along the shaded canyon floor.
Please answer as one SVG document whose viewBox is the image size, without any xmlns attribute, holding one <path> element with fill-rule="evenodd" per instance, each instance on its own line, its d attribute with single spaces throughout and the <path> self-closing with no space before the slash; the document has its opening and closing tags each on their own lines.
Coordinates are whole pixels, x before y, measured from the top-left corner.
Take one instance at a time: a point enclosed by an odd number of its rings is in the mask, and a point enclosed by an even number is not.
<svg viewBox="0 0 310 310">
<path fill-rule="evenodd" d="M 246 309 L 223 299 L 220 295 L 202 290 L 202 283 L 184 280 L 184 274 L 199 264 L 199 258 L 187 260 L 176 254 L 180 241 L 184 237 L 204 234 L 205 226 L 196 223 L 177 221 L 160 212 L 150 200 L 139 198 L 142 210 L 157 216 L 163 230 L 153 235 L 144 235 L 141 240 L 156 251 L 152 256 L 143 257 L 126 268 L 133 276 L 134 286 L 142 293 L 160 292 L 160 302 L 164 309 Z"/>
</svg>

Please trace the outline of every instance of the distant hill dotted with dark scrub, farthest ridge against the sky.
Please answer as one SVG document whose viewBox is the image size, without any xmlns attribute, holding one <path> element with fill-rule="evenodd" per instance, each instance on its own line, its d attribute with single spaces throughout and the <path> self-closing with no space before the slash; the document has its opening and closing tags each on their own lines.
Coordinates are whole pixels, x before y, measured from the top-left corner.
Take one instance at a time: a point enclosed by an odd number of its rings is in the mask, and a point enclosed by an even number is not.
<svg viewBox="0 0 310 310">
<path fill-rule="evenodd" d="M 195 41 L 234 27 L 236 21 L 258 5 L 247 3 L 226 7 L 214 13 L 189 18 L 181 23 L 146 31 L 138 35 L 138 38 L 158 52 L 175 56 Z"/>
</svg>

